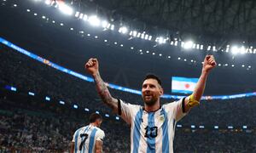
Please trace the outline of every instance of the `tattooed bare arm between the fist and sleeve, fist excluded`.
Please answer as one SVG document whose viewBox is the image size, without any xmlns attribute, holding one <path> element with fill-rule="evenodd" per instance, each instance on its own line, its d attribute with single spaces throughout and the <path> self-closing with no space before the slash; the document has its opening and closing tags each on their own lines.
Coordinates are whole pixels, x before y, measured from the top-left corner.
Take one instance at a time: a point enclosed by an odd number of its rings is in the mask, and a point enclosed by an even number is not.
<svg viewBox="0 0 256 153">
<path fill-rule="evenodd" d="M 108 91 L 108 87 L 106 86 L 105 82 L 103 82 L 100 73 L 96 73 L 94 76 L 94 80 L 96 82 L 96 89 L 100 97 L 102 98 L 103 102 L 108 105 L 114 112 L 118 110 L 118 100 L 114 99 Z"/>
</svg>

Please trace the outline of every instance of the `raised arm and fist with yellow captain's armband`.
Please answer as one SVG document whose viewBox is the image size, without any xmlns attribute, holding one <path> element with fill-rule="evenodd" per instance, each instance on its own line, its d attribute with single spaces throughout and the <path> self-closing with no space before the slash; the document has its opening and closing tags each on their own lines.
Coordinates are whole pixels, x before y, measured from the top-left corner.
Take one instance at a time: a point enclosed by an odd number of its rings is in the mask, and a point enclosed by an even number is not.
<svg viewBox="0 0 256 153">
<path fill-rule="evenodd" d="M 185 111 L 189 111 L 191 106 L 189 106 L 189 100 L 200 101 L 202 94 L 205 91 L 207 77 L 209 72 L 216 66 L 216 61 L 212 55 L 207 55 L 203 62 L 203 67 L 201 71 L 201 77 L 199 81 L 196 83 L 195 89 L 192 96 L 189 96 L 185 99 Z"/>
</svg>

